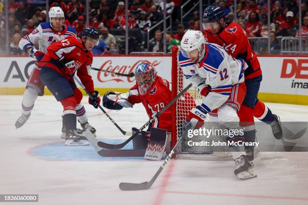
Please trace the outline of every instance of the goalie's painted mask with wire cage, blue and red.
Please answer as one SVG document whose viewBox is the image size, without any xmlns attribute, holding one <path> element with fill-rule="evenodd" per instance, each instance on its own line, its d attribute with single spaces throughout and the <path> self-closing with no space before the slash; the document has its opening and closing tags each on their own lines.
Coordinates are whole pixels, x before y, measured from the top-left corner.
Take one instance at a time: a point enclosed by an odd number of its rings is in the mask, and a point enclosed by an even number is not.
<svg viewBox="0 0 308 205">
<path fill-rule="evenodd" d="M 141 62 L 135 68 L 135 79 L 141 95 L 145 95 L 157 77 L 157 71 L 149 63 Z"/>
</svg>

